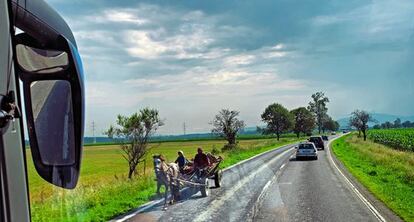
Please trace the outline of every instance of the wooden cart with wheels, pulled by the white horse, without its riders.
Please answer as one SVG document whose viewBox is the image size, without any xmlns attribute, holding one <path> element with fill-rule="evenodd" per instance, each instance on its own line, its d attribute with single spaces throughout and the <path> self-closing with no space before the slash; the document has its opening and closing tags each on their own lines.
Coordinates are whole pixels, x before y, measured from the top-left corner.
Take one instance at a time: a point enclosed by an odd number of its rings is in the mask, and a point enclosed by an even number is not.
<svg viewBox="0 0 414 222">
<path fill-rule="evenodd" d="M 223 158 L 207 154 L 210 165 L 203 169 L 195 169 L 192 164 L 186 166 L 180 174 L 180 182 L 188 187 L 199 189 L 203 197 L 209 194 L 209 179 L 214 180 L 214 186 L 220 187 L 221 170 L 219 165 Z"/>
</svg>

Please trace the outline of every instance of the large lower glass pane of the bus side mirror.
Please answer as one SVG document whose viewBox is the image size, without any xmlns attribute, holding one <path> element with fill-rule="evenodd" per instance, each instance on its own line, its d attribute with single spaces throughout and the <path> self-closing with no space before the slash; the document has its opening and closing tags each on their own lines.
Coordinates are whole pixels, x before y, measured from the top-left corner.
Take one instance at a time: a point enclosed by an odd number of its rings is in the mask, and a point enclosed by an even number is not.
<svg viewBox="0 0 414 222">
<path fill-rule="evenodd" d="M 65 80 L 35 81 L 30 85 L 30 94 L 43 164 L 74 164 L 75 132 L 70 83 Z"/>
</svg>

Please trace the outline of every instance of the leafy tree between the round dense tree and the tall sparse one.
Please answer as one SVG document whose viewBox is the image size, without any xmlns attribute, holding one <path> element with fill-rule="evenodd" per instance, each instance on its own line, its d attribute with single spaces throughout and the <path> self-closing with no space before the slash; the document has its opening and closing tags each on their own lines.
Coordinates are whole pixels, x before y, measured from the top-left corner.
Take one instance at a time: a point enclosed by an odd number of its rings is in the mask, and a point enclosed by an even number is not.
<svg viewBox="0 0 414 222">
<path fill-rule="evenodd" d="M 315 117 L 312 112 L 307 110 L 305 107 L 299 107 L 290 111 L 294 118 L 293 132 L 299 138 L 300 133 L 308 134 L 312 133 L 315 128 Z"/>
</svg>

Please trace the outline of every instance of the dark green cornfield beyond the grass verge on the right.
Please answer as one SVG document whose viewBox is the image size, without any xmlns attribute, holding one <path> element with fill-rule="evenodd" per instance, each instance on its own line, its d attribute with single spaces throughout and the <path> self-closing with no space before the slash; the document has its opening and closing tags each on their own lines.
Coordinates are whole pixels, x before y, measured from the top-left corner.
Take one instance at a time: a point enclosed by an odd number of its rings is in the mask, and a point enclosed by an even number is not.
<svg viewBox="0 0 414 222">
<path fill-rule="evenodd" d="M 369 130 L 368 138 L 394 149 L 414 151 L 414 128 Z"/>
</svg>

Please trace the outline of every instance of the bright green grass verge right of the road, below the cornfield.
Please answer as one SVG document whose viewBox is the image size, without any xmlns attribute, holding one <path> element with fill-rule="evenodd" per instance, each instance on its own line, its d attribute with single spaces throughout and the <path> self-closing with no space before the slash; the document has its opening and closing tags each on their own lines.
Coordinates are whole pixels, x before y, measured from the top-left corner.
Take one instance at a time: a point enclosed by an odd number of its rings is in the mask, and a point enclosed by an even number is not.
<svg viewBox="0 0 414 222">
<path fill-rule="evenodd" d="M 333 143 L 333 152 L 371 193 L 405 221 L 414 221 L 414 153 L 363 141 L 355 134 Z"/>
</svg>

